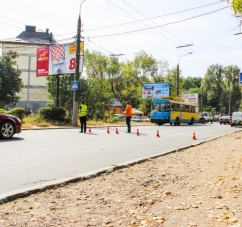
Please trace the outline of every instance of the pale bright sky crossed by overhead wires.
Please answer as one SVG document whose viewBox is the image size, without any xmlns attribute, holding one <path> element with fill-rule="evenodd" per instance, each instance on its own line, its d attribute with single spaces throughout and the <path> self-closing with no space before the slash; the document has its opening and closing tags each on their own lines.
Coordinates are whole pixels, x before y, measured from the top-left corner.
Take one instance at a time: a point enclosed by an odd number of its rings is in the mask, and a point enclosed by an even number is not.
<svg viewBox="0 0 242 227">
<path fill-rule="evenodd" d="M 120 61 L 144 51 L 170 69 L 179 64 L 183 77 L 203 78 L 212 64 L 242 70 L 239 20 L 220 0 L 0 0 L 0 40 L 33 25 L 72 42 L 79 15 L 85 49 Z"/>
</svg>

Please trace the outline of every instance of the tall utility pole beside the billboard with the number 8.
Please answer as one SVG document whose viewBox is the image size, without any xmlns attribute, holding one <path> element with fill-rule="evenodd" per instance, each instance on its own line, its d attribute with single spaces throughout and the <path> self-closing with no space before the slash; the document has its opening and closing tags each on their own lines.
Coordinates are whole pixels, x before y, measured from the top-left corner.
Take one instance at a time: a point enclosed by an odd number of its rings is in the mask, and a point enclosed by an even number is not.
<svg viewBox="0 0 242 227">
<path fill-rule="evenodd" d="M 79 15 L 78 23 L 77 23 L 77 40 L 76 40 L 76 69 L 74 80 L 79 81 L 79 63 L 80 63 L 80 40 L 81 40 L 81 16 Z M 72 125 L 77 127 L 77 115 L 78 115 L 78 105 L 79 105 L 79 87 L 78 90 L 73 91 L 73 118 L 72 118 Z"/>
</svg>

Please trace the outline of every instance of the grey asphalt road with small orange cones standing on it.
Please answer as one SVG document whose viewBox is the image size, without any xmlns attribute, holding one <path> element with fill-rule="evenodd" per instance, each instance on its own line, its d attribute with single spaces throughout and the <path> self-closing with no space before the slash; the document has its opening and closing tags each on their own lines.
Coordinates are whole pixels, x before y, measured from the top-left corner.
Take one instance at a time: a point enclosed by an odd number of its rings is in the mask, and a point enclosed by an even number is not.
<svg viewBox="0 0 242 227">
<path fill-rule="evenodd" d="M 137 129 L 140 136 L 136 135 Z M 164 154 L 237 130 L 219 123 L 193 126 L 136 126 L 24 130 L 11 140 L 0 140 L 0 198 L 17 191 L 48 185 L 132 160 Z M 160 137 L 156 137 L 159 130 Z M 195 133 L 197 140 L 192 140 Z"/>
</svg>

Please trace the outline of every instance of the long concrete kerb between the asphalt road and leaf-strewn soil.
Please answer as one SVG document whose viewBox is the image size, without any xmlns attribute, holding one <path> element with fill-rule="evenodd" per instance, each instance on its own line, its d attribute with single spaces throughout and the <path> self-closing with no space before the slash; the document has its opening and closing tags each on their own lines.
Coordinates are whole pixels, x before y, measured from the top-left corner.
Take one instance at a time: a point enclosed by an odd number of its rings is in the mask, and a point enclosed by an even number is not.
<svg viewBox="0 0 242 227">
<path fill-rule="evenodd" d="M 60 180 L 51 181 L 51 182 L 41 184 L 41 185 L 36 186 L 36 187 L 28 187 L 28 188 L 25 188 L 25 189 L 11 191 L 9 193 L 4 193 L 4 194 L 0 195 L 0 204 L 4 204 L 4 203 L 7 203 L 7 202 L 10 202 L 10 201 L 19 199 L 19 198 L 25 198 L 25 197 L 28 197 L 30 195 L 37 194 L 37 193 L 40 193 L 40 192 L 45 192 L 45 191 L 50 190 L 50 189 L 56 189 L 58 187 L 64 187 L 64 186 L 66 186 L 70 183 L 77 183 L 77 182 L 85 181 L 85 180 L 88 180 L 88 179 L 91 179 L 91 178 L 95 178 L 95 177 L 98 177 L 102 174 L 108 174 L 108 173 L 114 172 L 114 171 L 119 170 L 119 169 L 127 168 L 127 167 L 130 167 L 130 166 L 136 165 L 136 164 L 140 164 L 140 163 L 148 161 L 150 159 L 158 158 L 158 157 L 168 155 L 168 154 L 171 154 L 171 153 L 174 153 L 174 152 L 180 152 L 184 149 L 195 147 L 195 146 L 198 146 L 200 144 L 206 143 L 208 141 L 212 141 L 212 140 L 221 138 L 221 137 L 229 135 L 229 134 L 234 134 L 234 133 L 236 133 L 236 132 L 227 133 L 227 134 L 221 135 L 219 137 L 214 137 L 214 138 L 202 141 L 202 142 L 197 142 L 196 144 L 184 146 L 184 147 L 181 147 L 179 149 L 170 150 L 170 151 L 167 151 L 166 153 L 159 153 L 159 154 L 156 154 L 156 155 L 147 156 L 147 157 L 143 157 L 143 158 L 140 158 L 140 159 L 133 159 L 131 161 L 123 162 L 123 163 L 120 163 L 120 164 L 117 164 L 117 165 L 116 164 L 111 165 L 109 167 L 94 170 L 94 171 L 91 171 L 91 172 L 88 172 L 88 173 L 85 173 L 85 174 L 81 174 L 81 175 L 77 175 L 77 176 L 74 176 L 74 177 L 63 178 L 63 179 L 60 179 Z"/>
</svg>

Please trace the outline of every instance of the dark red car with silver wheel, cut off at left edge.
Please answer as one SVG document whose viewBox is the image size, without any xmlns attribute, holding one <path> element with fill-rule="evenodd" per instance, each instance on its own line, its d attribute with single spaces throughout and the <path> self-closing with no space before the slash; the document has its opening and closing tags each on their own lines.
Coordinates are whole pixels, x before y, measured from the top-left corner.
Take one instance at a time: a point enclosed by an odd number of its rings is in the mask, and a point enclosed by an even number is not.
<svg viewBox="0 0 242 227">
<path fill-rule="evenodd" d="M 21 132 L 22 122 L 19 118 L 0 113 L 0 138 L 10 139 L 15 133 Z"/>
</svg>

